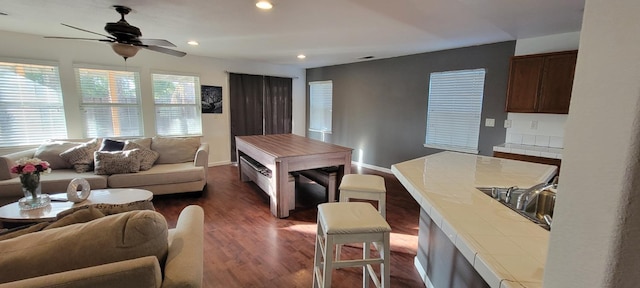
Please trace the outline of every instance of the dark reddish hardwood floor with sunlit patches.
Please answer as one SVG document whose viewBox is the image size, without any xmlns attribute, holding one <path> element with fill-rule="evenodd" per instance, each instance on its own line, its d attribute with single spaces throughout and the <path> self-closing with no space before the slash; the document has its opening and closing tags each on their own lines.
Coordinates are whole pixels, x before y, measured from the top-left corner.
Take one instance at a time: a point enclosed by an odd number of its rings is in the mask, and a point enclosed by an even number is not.
<svg viewBox="0 0 640 288">
<path fill-rule="evenodd" d="M 391 174 L 375 170 L 352 173 L 385 178 L 387 222 L 391 234 L 391 286 L 424 287 L 413 261 L 418 246 L 419 206 Z M 269 212 L 266 195 L 253 183 L 240 182 L 233 165 L 209 168 L 200 195 L 156 196 L 156 210 L 170 227 L 187 205 L 200 205 L 204 223 L 204 287 L 312 287 L 316 205 L 324 189 L 301 179 L 296 209 L 286 219 Z M 361 257 L 357 245 L 345 246 L 343 257 Z M 377 269 L 376 269 L 377 271 Z M 362 287 L 362 269 L 334 270 L 333 287 Z"/>
</svg>

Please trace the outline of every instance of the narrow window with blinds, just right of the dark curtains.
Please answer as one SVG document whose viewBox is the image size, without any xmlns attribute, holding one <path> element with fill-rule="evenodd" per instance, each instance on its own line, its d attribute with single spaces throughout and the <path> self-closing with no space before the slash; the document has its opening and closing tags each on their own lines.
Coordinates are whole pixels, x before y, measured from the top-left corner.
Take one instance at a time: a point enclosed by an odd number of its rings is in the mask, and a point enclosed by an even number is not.
<svg viewBox="0 0 640 288">
<path fill-rule="evenodd" d="M 309 132 L 331 134 L 333 82 L 309 82 Z"/>
</svg>

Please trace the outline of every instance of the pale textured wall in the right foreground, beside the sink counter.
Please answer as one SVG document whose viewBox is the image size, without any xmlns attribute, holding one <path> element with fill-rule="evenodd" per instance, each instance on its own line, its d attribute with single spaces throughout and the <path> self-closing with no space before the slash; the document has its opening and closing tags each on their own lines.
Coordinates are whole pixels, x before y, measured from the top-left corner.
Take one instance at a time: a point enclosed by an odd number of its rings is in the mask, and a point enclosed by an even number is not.
<svg viewBox="0 0 640 288">
<path fill-rule="evenodd" d="M 640 283 L 638 15 L 586 0 L 544 287 Z"/>
</svg>

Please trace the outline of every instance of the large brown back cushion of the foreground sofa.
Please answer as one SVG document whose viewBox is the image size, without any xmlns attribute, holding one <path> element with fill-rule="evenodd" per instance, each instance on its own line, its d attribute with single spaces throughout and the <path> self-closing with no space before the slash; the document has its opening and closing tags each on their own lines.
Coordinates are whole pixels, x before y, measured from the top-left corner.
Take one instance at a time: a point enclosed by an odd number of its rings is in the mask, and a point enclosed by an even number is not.
<svg viewBox="0 0 640 288">
<path fill-rule="evenodd" d="M 155 256 L 164 266 L 167 222 L 132 211 L 0 241 L 0 283 Z"/>
</svg>

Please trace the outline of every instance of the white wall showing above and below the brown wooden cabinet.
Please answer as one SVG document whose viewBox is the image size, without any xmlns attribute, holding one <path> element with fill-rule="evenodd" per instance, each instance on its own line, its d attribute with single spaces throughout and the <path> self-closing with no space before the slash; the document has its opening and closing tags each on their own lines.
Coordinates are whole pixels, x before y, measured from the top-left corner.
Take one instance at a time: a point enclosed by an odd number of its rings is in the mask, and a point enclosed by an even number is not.
<svg viewBox="0 0 640 288">
<path fill-rule="evenodd" d="M 514 55 L 529 55 L 567 50 L 577 50 L 580 32 L 554 34 L 535 38 L 516 40 Z M 552 139 L 549 147 L 562 148 L 564 143 L 564 126 L 567 115 L 541 113 L 508 113 L 511 128 L 507 128 L 505 142 L 526 144 L 523 138 L 547 137 Z M 531 122 L 536 121 L 537 128 L 531 128 Z M 540 146 L 540 145 L 537 145 Z"/>
</svg>

